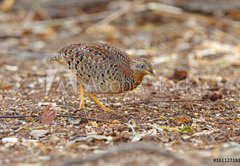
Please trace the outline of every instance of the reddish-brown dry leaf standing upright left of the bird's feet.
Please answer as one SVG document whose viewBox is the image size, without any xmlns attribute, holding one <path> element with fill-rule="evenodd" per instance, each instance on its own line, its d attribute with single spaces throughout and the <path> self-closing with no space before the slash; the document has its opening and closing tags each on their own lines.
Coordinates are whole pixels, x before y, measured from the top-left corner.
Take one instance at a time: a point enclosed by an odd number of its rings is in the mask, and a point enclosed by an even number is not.
<svg viewBox="0 0 240 166">
<path fill-rule="evenodd" d="M 52 104 L 49 104 L 45 107 L 43 110 L 42 116 L 41 116 L 41 122 L 42 124 L 47 124 L 49 125 L 50 123 L 53 122 L 53 120 L 56 118 L 56 113 L 54 111 L 51 111 Z"/>
</svg>

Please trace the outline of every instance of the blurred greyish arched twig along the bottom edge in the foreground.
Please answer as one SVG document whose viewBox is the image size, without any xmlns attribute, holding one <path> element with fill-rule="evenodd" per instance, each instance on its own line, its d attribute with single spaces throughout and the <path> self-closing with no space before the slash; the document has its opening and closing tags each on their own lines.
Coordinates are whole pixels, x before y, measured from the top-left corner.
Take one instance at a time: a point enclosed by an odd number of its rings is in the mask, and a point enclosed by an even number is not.
<svg viewBox="0 0 240 166">
<path fill-rule="evenodd" d="M 82 158 L 76 158 L 72 160 L 66 161 L 63 165 L 69 166 L 69 165 L 82 165 L 86 162 L 96 162 L 100 159 L 105 159 L 108 157 L 112 157 L 114 155 L 117 155 L 119 153 L 131 153 L 135 151 L 143 151 L 147 153 L 155 153 L 160 156 L 164 156 L 167 158 L 172 158 L 175 161 L 182 163 L 183 165 L 192 165 L 190 162 L 188 162 L 186 159 L 182 159 L 178 157 L 175 153 L 164 149 L 163 147 L 158 147 L 155 144 L 149 144 L 149 143 L 125 143 L 121 144 L 119 146 L 112 146 L 110 147 L 105 153 L 97 154 L 89 156 L 85 159 Z"/>
</svg>

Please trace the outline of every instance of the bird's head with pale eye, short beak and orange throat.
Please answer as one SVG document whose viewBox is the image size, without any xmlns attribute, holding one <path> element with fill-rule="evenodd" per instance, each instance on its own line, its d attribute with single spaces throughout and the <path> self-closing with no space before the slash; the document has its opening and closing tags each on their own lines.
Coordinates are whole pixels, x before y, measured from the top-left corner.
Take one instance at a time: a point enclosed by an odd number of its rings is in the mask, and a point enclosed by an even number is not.
<svg viewBox="0 0 240 166">
<path fill-rule="evenodd" d="M 131 69 L 134 73 L 135 80 L 141 82 L 145 75 L 156 77 L 153 72 L 151 63 L 144 58 L 132 59 Z"/>
</svg>

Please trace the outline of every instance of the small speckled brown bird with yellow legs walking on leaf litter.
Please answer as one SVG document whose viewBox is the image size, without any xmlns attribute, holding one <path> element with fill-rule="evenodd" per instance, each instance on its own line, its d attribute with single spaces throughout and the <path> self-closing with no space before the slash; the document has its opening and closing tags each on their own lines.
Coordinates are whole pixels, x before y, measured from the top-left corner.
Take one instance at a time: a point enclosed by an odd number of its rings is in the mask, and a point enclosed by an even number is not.
<svg viewBox="0 0 240 166">
<path fill-rule="evenodd" d="M 103 111 L 114 112 L 95 94 L 120 94 L 138 87 L 145 75 L 156 77 L 151 63 L 130 57 L 125 51 L 107 43 L 80 42 L 62 47 L 49 58 L 65 65 L 77 79 L 80 90 L 79 109 L 85 109 L 85 94 Z"/>
</svg>

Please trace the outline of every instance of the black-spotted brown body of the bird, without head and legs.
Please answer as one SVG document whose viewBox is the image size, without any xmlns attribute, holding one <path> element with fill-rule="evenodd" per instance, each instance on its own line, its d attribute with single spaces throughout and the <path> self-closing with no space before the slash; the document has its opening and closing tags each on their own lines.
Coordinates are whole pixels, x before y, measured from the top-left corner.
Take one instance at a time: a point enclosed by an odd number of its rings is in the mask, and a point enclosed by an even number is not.
<svg viewBox="0 0 240 166">
<path fill-rule="evenodd" d="M 54 59 L 64 61 L 90 92 L 121 93 L 133 88 L 131 59 L 125 52 L 108 44 L 70 44 L 63 47 Z"/>
</svg>

